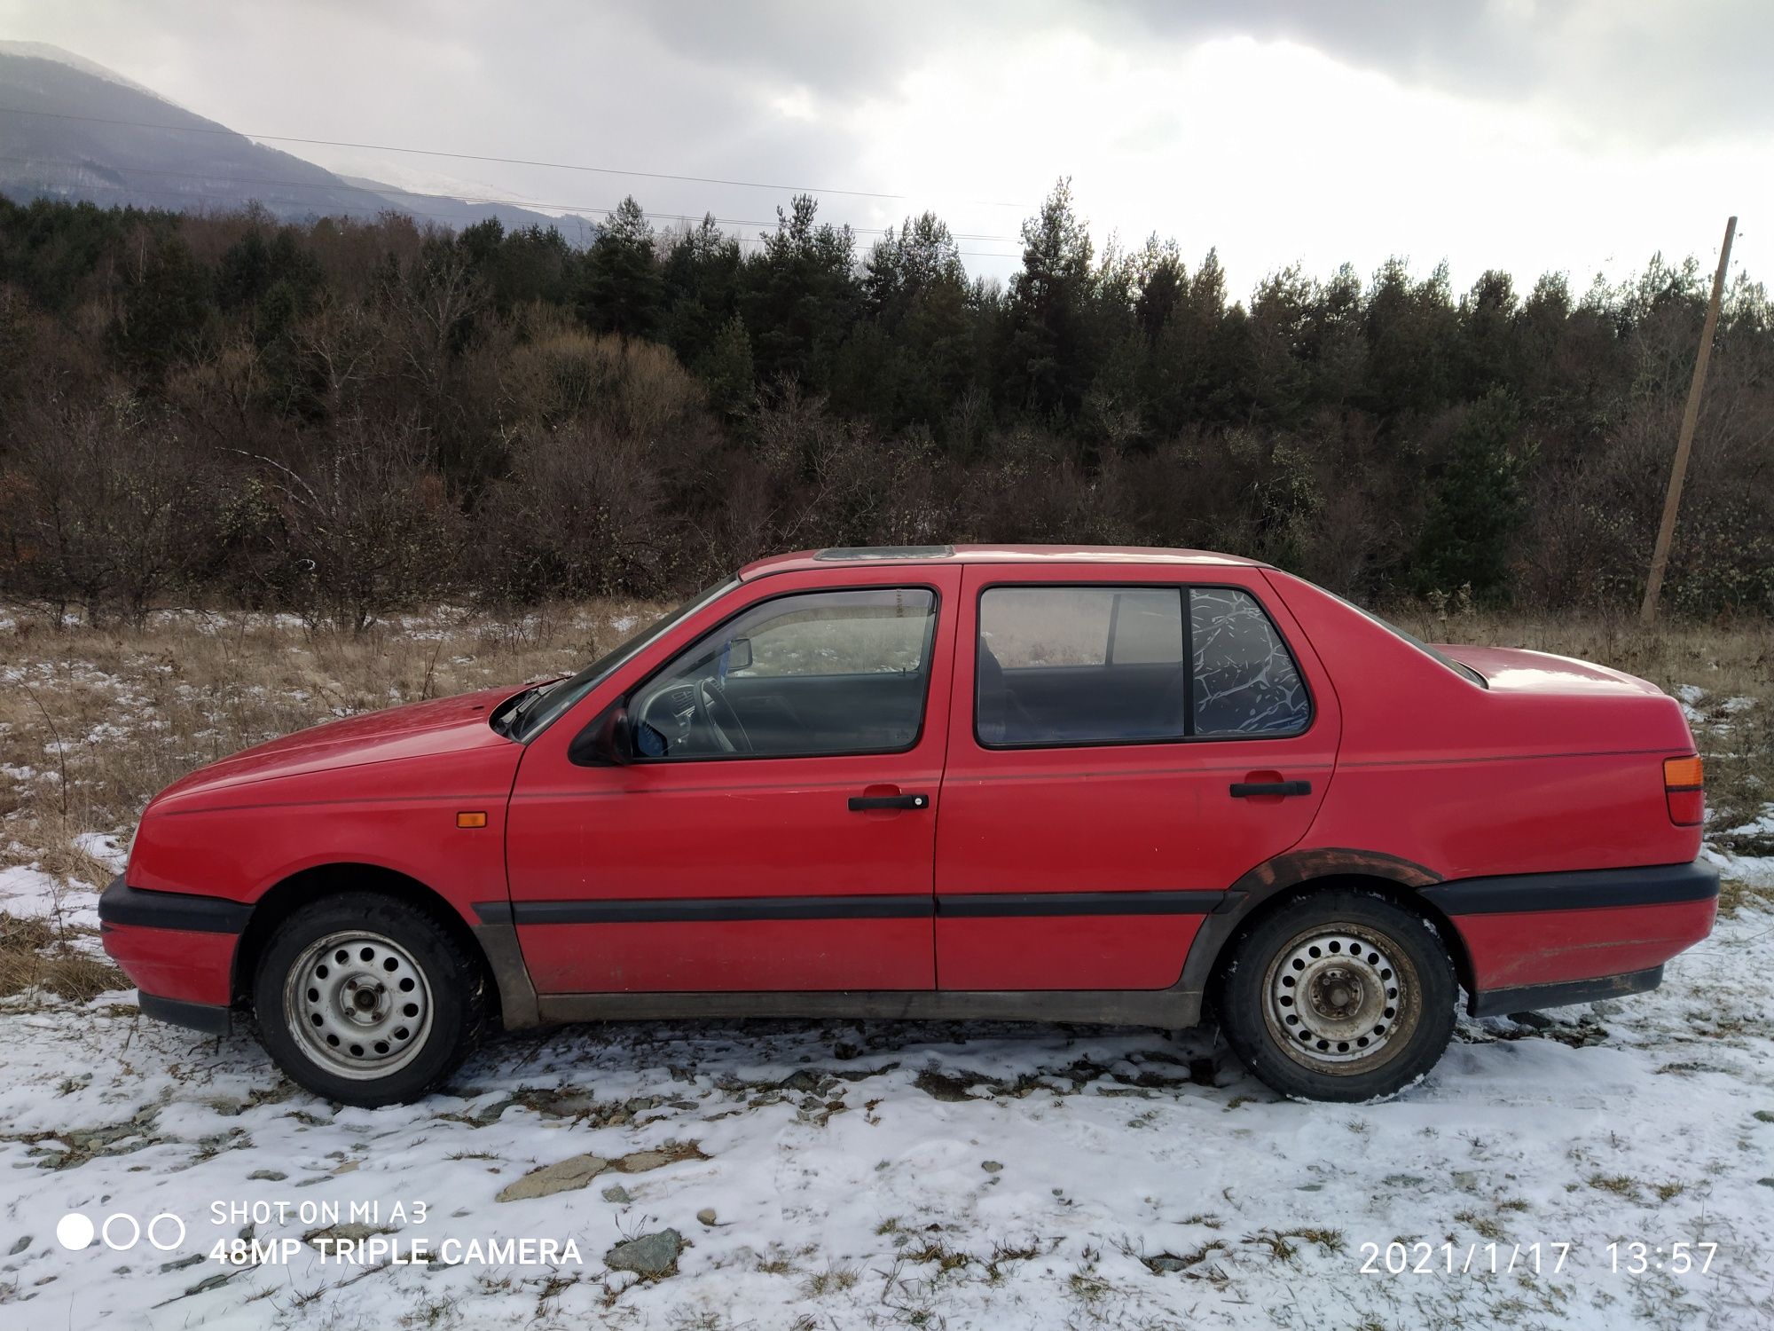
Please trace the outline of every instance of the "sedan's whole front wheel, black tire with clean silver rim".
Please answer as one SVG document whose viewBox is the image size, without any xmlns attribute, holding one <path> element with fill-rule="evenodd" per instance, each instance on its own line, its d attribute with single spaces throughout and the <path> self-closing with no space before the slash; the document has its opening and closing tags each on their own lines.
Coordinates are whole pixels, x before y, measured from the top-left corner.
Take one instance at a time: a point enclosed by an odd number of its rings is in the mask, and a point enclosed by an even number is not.
<svg viewBox="0 0 1774 1331">
<path fill-rule="evenodd" d="M 380 893 L 293 910 L 259 955 L 252 1004 L 291 1081 L 365 1109 L 436 1090 L 488 1017 L 479 962 L 435 916 Z"/>
</svg>

